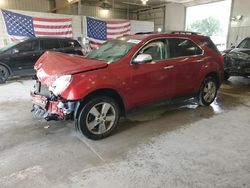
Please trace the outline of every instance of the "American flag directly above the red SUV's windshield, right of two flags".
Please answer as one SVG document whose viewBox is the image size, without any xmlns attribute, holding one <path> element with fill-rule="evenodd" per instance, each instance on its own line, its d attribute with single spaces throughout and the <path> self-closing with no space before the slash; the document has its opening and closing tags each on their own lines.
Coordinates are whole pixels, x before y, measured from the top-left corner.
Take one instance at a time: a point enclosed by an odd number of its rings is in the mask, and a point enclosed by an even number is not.
<svg viewBox="0 0 250 188">
<path fill-rule="evenodd" d="M 125 21 L 103 21 L 87 17 L 87 36 L 92 48 L 99 47 L 107 40 L 130 34 L 131 25 Z"/>
</svg>

